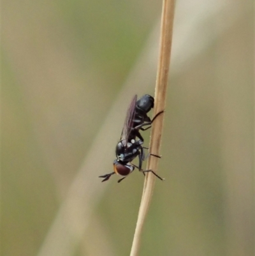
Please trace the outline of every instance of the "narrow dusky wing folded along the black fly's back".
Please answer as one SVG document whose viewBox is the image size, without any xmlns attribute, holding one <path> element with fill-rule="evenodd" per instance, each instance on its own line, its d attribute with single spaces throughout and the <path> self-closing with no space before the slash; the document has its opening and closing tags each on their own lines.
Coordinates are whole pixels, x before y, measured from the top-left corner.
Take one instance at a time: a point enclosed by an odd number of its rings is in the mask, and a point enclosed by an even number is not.
<svg viewBox="0 0 255 256">
<path fill-rule="evenodd" d="M 136 100 L 137 100 L 137 95 L 135 95 L 130 103 L 127 115 L 126 115 L 126 119 L 125 119 L 125 123 L 122 129 L 122 133 L 120 136 L 120 140 L 124 140 L 124 146 L 126 146 L 126 144 L 128 143 L 128 137 L 129 134 L 132 130 L 133 127 L 133 122 L 134 122 L 134 118 L 135 118 L 135 106 L 136 106 Z"/>
</svg>

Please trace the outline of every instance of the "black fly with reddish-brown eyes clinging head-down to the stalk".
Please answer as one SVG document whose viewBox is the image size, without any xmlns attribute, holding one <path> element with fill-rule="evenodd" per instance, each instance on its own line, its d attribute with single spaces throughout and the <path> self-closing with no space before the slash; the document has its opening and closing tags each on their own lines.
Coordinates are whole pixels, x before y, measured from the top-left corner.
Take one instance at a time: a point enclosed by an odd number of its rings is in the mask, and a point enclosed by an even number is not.
<svg viewBox="0 0 255 256">
<path fill-rule="evenodd" d="M 115 153 L 117 159 L 113 161 L 113 170 L 110 174 L 105 174 L 99 177 L 103 177 L 103 181 L 107 181 L 112 174 L 119 174 L 124 176 L 119 179 L 118 182 L 122 181 L 128 174 L 133 172 L 135 165 L 131 162 L 138 156 L 139 165 L 138 170 L 143 172 L 152 172 L 155 176 L 157 174 L 153 170 L 142 170 L 142 162 L 149 156 L 156 156 L 155 154 L 148 154 L 145 156 L 144 150 L 147 147 L 143 147 L 143 137 L 140 134 L 140 130 L 145 131 L 151 127 L 152 122 L 156 119 L 159 112 L 151 120 L 147 113 L 154 107 L 154 98 L 149 94 L 143 95 L 137 100 L 137 95 L 133 97 L 131 104 L 129 106 L 128 112 L 126 114 L 125 123 L 122 129 L 120 140 L 116 146 Z M 138 139 L 136 139 L 136 137 Z M 156 156 L 160 158 L 160 156 Z M 159 179 L 163 180 L 161 177 L 157 176 Z M 102 182 L 103 182 L 102 181 Z"/>
</svg>

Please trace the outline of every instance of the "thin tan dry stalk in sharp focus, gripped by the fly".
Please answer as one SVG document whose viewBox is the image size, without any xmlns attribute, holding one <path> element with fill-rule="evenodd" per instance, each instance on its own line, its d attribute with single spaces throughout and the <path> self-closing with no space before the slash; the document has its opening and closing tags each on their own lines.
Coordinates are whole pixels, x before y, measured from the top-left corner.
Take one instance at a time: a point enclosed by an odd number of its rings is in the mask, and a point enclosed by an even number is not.
<svg viewBox="0 0 255 256">
<path fill-rule="evenodd" d="M 163 10 L 161 16 L 161 33 L 159 45 L 159 62 L 157 66 L 157 79 L 155 88 L 155 105 L 154 115 L 164 110 L 166 105 L 166 89 L 168 84 L 168 72 L 170 66 L 171 41 L 173 34 L 173 17 L 175 9 L 175 0 L 163 0 Z M 152 125 L 150 135 L 150 152 L 160 154 L 161 136 L 163 132 L 163 114 L 157 117 Z M 157 170 L 159 159 L 150 157 L 147 163 L 147 170 Z M 152 198 L 155 176 L 148 173 L 145 176 L 143 185 L 143 195 L 136 223 L 135 235 L 131 248 L 130 256 L 137 256 L 140 248 L 140 240 L 142 235 L 143 224 L 147 215 L 150 200 Z"/>
</svg>

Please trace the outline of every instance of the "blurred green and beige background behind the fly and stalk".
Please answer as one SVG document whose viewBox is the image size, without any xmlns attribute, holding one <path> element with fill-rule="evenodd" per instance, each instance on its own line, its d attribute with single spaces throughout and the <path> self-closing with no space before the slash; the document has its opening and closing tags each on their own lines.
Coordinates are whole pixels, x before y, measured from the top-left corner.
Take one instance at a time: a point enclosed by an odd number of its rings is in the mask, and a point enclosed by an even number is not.
<svg viewBox="0 0 255 256">
<path fill-rule="evenodd" d="M 178 1 L 140 255 L 254 255 L 253 1 Z M 160 1 L 3 1 L 1 255 L 129 255 L 143 188 L 112 176 L 154 94 Z M 145 135 L 149 141 L 149 132 Z"/>
</svg>

